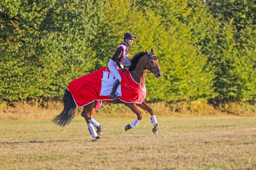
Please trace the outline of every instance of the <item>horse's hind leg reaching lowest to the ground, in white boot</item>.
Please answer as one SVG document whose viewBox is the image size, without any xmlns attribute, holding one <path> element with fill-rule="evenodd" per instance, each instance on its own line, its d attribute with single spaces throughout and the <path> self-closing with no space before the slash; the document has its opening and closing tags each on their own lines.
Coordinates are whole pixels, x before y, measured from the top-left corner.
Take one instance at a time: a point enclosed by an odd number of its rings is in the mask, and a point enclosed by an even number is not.
<svg viewBox="0 0 256 170">
<path fill-rule="evenodd" d="M 84 117 L 84 119 L 88 125 L 88 130 L 89 130 L 90 134 L 92 135 L 92 137 L 96 138 L 96 139 L 100 139 L 100 137 L 97 135 L 93 125 L 89 121 L 89 120 L 91 120 L 90 113 L 94 112 L 94 110 L 95 110 L 95 108 L 93 108 L 95 103 L 96 102 L 94 101 L 94 102 L 84 106 L 84 109 L 83 109 L 81 115 L 82 115 L 82 117 Z"/>
</svg>

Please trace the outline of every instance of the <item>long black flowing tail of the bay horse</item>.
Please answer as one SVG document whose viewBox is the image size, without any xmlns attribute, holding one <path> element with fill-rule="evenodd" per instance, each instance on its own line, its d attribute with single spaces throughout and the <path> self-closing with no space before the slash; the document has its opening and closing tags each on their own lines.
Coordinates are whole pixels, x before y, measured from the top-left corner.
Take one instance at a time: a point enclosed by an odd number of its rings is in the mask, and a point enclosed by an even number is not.
<svg viewBox="0 0 256 170">
<path fill-rule="evenodd" d="M 63 96 L 63 105 L 63 111 L 52 120 L 55 124 L 62 127 L 70 124 L 76 113 L 76 104 L 68 89 L 65 90 Z"/>
</svg>

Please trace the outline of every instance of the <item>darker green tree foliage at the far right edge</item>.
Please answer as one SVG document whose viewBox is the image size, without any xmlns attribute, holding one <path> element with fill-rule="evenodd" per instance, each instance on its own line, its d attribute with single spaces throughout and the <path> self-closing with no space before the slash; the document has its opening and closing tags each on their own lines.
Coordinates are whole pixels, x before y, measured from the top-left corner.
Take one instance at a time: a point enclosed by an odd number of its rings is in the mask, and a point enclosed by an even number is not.
<svg viewBox="0 0 256 170">
<path fill-rule="evenodd" d="M 213 37 L 206 37 L 203 48 L 213 66 L 213 87 L 220 100 L 255 100 L 255 7 L 255 1 L 248 0 L 209 1 L 209 10 L 220 24 Z"/>
</svg>

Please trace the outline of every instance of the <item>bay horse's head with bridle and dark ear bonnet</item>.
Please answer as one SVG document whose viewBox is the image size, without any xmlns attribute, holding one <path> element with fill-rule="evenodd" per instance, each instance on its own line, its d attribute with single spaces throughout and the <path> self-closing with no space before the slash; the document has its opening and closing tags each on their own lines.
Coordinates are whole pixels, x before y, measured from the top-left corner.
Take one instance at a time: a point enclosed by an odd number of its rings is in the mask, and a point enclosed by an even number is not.
<svg viewBox="0 0 256 170">
<path fill-rule="evenodd" d="M 151 48 L 151 52 L 146 50 L 147 54 L 147 64 L 146 69 L 155 74 L 156 78 L 161 78 L 163 73 L 161 71 L 161 67 L 158 65 L 157 56 L 154 54 L 153 48 Z"/>
</svg>

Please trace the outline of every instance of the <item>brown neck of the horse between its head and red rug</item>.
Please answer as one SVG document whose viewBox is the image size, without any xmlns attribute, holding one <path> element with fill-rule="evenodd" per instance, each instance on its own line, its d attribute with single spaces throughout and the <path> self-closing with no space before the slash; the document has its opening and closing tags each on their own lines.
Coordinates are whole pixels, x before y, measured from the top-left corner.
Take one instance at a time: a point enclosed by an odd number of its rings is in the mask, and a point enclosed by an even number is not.
<svg viewBox="0 0 256 170">
<path fill-rule="evenodd" d="M 132 78 L 142 86 L 144 86 L 145 84 L 145 77 L 146 77 L 146 73 L 143 73 L 144 71 L 146 71 L 146 68 L 144 67 L 145 57 L 146 55 L 141 57 L 141 59 L 138 61 L 138 63 L 136 64 L 136 67 L 133 70 L 135 72 L 131 72 Z M 140 73 L 136 73 L 136 71 Z"/>
</svg>

